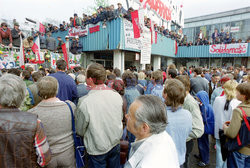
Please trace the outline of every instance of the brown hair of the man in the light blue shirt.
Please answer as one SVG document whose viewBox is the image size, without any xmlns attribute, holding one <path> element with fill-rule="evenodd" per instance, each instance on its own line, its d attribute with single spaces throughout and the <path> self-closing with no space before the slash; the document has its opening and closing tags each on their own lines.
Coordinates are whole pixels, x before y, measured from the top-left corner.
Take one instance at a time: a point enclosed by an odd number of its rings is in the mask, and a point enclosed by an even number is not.
<svg viewBox="0 0 250 168">
<path fill-rule="evenodd" d="M 173 111 L 176 111 L 184 103 L 186 94 L 185 87 L 181 81 L 177 79 L 167 80 L 163 92 L 167 94 L 165 104 L 171 106 Z"/>
</svg>

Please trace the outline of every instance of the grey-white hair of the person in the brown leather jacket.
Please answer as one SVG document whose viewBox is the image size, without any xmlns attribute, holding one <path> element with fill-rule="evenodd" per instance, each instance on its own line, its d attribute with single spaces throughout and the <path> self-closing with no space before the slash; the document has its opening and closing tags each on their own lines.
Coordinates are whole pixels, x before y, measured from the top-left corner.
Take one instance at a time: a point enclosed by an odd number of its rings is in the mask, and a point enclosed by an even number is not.
<svg viewBox="0 0 250 168">
<path fill-rule="evenodd" d="M 19 108 L 25 98 L 26 85 L 23 80 L 13 74 L 5 74 L 0 78 L 0 105 Z"/>
</svg>

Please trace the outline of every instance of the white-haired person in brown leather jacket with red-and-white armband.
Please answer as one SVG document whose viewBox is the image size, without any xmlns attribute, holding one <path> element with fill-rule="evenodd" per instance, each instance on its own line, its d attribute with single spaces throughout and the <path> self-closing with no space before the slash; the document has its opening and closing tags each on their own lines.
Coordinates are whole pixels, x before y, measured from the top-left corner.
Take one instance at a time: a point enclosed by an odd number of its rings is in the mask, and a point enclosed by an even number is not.
<svg viewBox="0 0 250 168">
<path fill-rule="evenodd" d="M 0 78 L 0 167 L 41 167 L 51 160 L 43 125 L 37 115 L 22 112 L 26 85 L 16 75 Z"/>
</svg>

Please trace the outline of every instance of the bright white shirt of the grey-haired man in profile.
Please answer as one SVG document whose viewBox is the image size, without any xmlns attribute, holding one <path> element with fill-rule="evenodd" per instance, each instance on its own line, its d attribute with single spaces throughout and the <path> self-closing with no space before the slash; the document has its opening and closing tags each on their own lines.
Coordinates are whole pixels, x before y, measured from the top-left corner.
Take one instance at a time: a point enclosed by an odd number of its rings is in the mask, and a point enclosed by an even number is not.
<svg viewBox="0 0 250 168">
<path fill-rule="evenodd" d="M 145 139 L 125 164 L 125 168 L 166 167 L 180 167 L 175 144 L 166 131 Z"/>
</svg>

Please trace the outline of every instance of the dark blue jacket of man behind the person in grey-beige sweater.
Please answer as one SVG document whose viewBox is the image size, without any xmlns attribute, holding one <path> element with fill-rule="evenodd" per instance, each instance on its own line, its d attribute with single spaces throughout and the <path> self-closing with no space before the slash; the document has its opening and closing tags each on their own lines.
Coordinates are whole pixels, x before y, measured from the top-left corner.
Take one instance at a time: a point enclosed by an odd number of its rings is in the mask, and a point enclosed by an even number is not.
<svg viewBox="0 0 250 168">
<path fill-rule="evenodd" d="M 57 96 L 61 101 L 70 100 L 74 102 L 77 98 L 76 83 L 72 77 L 65 72 L 58 71 L 57 73 L 50 74 L 57 79 L 59 88 Z"/>
</svg>

